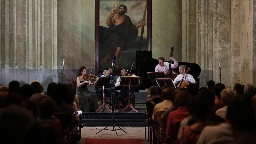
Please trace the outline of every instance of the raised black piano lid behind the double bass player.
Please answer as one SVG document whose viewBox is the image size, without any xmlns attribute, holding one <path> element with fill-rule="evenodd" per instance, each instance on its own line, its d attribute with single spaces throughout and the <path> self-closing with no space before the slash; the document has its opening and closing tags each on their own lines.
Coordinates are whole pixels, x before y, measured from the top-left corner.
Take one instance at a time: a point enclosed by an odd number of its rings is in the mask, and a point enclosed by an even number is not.
<svg viewBox="0 0 256 144">
<path fill-rule="evenodd" d="M 169 62 L 169 61 L 165 61 L 165 62 Z M 152 58 L 151 51 L 136 51 L 136 76 L 142 76 L 143 78 L 148 78 L 147 72 L 154 72 L 156 65 L 158 65 L 158 60 Z M 185 65 L 186 70 L 187 68 L 190 68 L 190 71 L 188 72 L 188 74 L 192 75 L 194 78 L 197 78 L 201 73 L 201 67 L 198 64 L 191 63 L 191 62 L 178 61 L 178 67 L 173 69 L 178 74 L 180 74 L 179 65 Z"/>
</svg>

